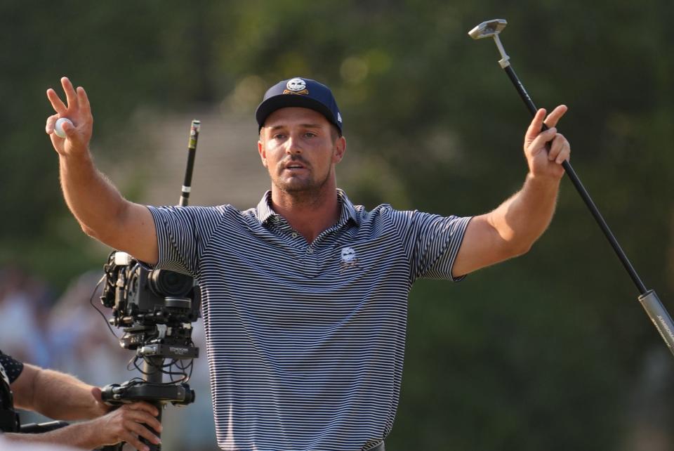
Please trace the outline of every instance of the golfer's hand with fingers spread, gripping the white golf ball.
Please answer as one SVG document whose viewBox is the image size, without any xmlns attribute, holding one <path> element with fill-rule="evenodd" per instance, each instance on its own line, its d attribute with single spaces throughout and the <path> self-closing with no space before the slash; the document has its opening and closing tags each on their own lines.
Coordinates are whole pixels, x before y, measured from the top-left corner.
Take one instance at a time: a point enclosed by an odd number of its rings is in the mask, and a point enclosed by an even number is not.
<svg viewBox="0 0 674 451">
<path fill-rule="evenodd" d="M 89 140 L 93 131 L 93 116 L 84 88 L 79 86 L 77 91 L 66 77 L 61 79 L 61 86 L 65 91 L 67 105 L 59 98 L 53 89 L 47 89 L 47 98 L 51 102 L 56 114 L 47 118 L 45 131 L 51 138 L 51 143 L 59 155 L 82 155 L 88 152 Z M 66 137 L 61 138 L 54 132 L 56 119 L 67 117 L 73 125 L 63 124 Z"/>
</svg>

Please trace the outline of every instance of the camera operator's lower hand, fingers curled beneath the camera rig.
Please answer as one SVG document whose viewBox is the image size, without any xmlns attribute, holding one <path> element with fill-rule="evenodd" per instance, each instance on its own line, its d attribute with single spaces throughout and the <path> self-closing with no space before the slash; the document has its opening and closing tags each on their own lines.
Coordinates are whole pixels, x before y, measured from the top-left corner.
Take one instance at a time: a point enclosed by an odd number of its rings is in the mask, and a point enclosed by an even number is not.
<svg viewBox="0 0 674 451">
<path fill-rule="evenodd" d="M 136 450 L 147 450 L 147 446 L 140 442 L 140 437 L 151 443 L 160 443 L 159 437 L 155 436 L 144 424 L 155 431 L 161 431 L 161 423 L 157 420 L 159 411 L 157 407 L 147 403 L 125 404 L 103 417 L 87 421 L 87 429 L 91 429 L 93 446 L 115 445 L 126 442 Z M 84 425 L 84 424 L 83 424 Z"/>
</svg>

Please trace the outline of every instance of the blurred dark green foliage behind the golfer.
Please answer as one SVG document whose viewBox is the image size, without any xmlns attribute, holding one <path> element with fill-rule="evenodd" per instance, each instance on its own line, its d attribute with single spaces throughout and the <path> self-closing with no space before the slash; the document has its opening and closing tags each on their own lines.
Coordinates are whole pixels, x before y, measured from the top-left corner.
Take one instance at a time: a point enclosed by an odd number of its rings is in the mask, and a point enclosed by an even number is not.
<svg viewBox="0 0 674 451">
<path fill-rule="evenodd" d="M 100 166 L 124 166 L 122 190 L 139 202 L 152 168 L 134 162 L 161 150 L 146 146 L 138 111 L 210 105 L 252 122 L 267 86 L 302 75 L 340 102 L 362 163 L 344 178 L 352 200 L 496 207 L 524 179 L 529 117 L 491 41 L 466 34 L 489 18 L 508 20 L 503 43 L 534 100 L 569 105 L 560 130 L 574 168 L 671 311 L 674 6 L 663 0 L 1 2 L 0 264 L 60 290 L 107 255 L 68 214 L 42 133 L 44 91 L 64 74 L 91 98 Z M 253 151 L 248 138 L 241 152 Z M 655 435 L 670 449 L 674 367 L 636 296 L 563 181 L 553 225 L 527 256 L 414 288 L 387 447 L 655 450 Z"/>
</svg>

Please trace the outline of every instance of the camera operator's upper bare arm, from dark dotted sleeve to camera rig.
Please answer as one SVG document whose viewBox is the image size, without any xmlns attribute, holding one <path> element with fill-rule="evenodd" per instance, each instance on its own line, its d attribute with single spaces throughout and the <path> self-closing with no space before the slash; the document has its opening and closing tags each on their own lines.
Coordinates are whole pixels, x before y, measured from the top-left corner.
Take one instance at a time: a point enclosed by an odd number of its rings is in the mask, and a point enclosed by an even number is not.
<svg viewBox="0 0 674 451">
<path fill-rule="evenodd" d="M 62 420 L 93 419 L 110 410 L 100 390 L 70 374 L 24 365 L 12 384 L 16 407 Z"/>
</svg>

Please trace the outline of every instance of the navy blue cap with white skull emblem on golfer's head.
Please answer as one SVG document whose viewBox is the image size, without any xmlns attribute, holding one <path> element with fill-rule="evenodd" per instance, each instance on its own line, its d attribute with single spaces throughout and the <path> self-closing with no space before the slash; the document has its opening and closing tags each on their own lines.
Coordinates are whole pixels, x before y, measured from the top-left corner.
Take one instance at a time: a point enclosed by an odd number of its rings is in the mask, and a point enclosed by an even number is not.
<svg viewBox="0 0 674 451">
<path fill-rule="evenodd" d="M 267 89 L 262 103 L 255 111 L 260 129 L 272 112 L 285 107 L 303 107 L 317 111 L 331 124 L 335 124 L 340 133 L 342 132 L 342 116 L 339 114 L 332 91 L 316 80 L 295 77 L 279 81 Z"/>
</svg>

